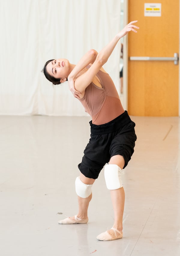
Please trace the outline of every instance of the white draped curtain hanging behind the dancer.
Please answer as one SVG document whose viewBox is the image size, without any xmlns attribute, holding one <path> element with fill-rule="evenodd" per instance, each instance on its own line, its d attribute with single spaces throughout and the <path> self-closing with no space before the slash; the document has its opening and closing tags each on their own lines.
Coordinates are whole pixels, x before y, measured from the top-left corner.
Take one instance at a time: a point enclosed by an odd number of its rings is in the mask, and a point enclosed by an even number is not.
<svg viewBox="0 0 180 256">
<path fill-rule="evenodd" d="M 49 59 L 76 64 L 120 29 L 120 0 L 0 0 L 0 115 L 87 115 L 68 90 L 41 72 Z M 105 70 L 119 91 L 120 43 Z"/>
</svg>

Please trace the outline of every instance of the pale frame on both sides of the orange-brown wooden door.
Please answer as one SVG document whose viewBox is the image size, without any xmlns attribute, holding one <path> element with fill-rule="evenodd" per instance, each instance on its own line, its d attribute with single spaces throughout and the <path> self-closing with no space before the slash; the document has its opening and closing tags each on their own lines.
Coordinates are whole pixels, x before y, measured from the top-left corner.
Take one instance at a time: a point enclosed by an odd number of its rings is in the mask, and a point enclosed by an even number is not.
<svg viewBox="0 0 180 256">
<path fill-rule="evenodd" d="M 124 25 L 128 24 L 128 0 L 124 1 Z M 179 24 L 180 24 L 180 0 L 179 0 Z M 180 53 L 180 25 L 179 25 L 179 53 Z M 178 53 L 178 54 L 179 54 Z M 124 38 L 123 47 L 123 93 L 124 93 L 124 107 L 128 109 L 128 35 Z M 179 74 L 180 74 L 180 63 Z M 180 117 L 180 77 L 179 77 L 179 117 Z"/>
</svg>

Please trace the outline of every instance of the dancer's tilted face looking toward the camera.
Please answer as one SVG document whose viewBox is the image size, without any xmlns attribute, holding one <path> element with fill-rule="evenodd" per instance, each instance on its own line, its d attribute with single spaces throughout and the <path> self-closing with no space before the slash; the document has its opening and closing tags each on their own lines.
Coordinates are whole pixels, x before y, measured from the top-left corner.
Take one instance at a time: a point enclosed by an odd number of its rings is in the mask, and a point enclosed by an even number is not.
<svg viewBox="0 0 180 256">
<path fill-rule="evenodd" d="M 67 59 L 55 59 L 46 66 L 46 71 L 55 78 L 67 78 L 69 75 L 69 61 Z"/>
</svg>

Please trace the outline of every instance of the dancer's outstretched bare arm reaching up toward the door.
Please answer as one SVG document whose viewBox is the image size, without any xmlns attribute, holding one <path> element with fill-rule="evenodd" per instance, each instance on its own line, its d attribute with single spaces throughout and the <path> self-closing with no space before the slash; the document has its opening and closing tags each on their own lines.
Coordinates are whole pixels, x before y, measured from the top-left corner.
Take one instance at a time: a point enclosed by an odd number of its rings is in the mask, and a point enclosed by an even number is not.
<svg viewBox="0 0 180 256">
<path fill-rule="evenodd" d="M 133 25 L 136 22 L 137 22 L 137 20 L 132 21 L 128 25 L 126 25 L 125 28 L 122 29 L 113 38 L 113 40 L 110 41 L 110 43 L 107 44 L 107 46 L 105 46 L 98 53 L 94 63 L 91 65 L 91 67 L 88 69 L 88 71 L 86 71 L 85 73 L 83 73 L 82 75 L 77 77 L 77 79 L 75 80 L 75 83 L 74 83 L 75 89 L 77 91 L 79 91 L 81 93 L 83 93 L 85 91 L 86 87 L 91 83 L 91 81 L 93 80 L 95 75 L 98 73 L 98 71 L 101 69 L 101 67 L 107 62 L 108 58 L 110 57 L 111 53 L 113 52 L 113 50 L 114 50 L 114 48 L 115 48 L 115 46 L 118 43 L 120 38 L 122 38 L 123 36 L 127 35 L 128 32 L 130 32 L 130 31 L 133 31 L 133 32 L 137 33 L 137 31 L 135 29 L 139 29 L 139 27 Z"/>
</svg>

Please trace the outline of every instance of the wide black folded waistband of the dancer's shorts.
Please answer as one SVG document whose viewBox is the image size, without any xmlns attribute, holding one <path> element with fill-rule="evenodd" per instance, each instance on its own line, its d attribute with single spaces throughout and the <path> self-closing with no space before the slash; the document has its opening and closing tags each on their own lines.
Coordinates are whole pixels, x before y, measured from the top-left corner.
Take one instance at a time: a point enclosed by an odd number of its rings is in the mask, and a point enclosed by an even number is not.
<svg viewBox="0 0 180 256">
<path fill-rule="evenodd" d="M 99 135 L 117 131 L 119 128 L 122 128 L 129 122 L 131 122 L 131 118 L 129 117 L 127 110 L 125 110 L 125 112 L 122 113 L 120 116 L 116 117 L 115 119 L 106 124 L 95 125 L 92 124 L 92 120 L 89 122 L 89 124 L 91 126 L 91 133 Z"/>
</svg>

